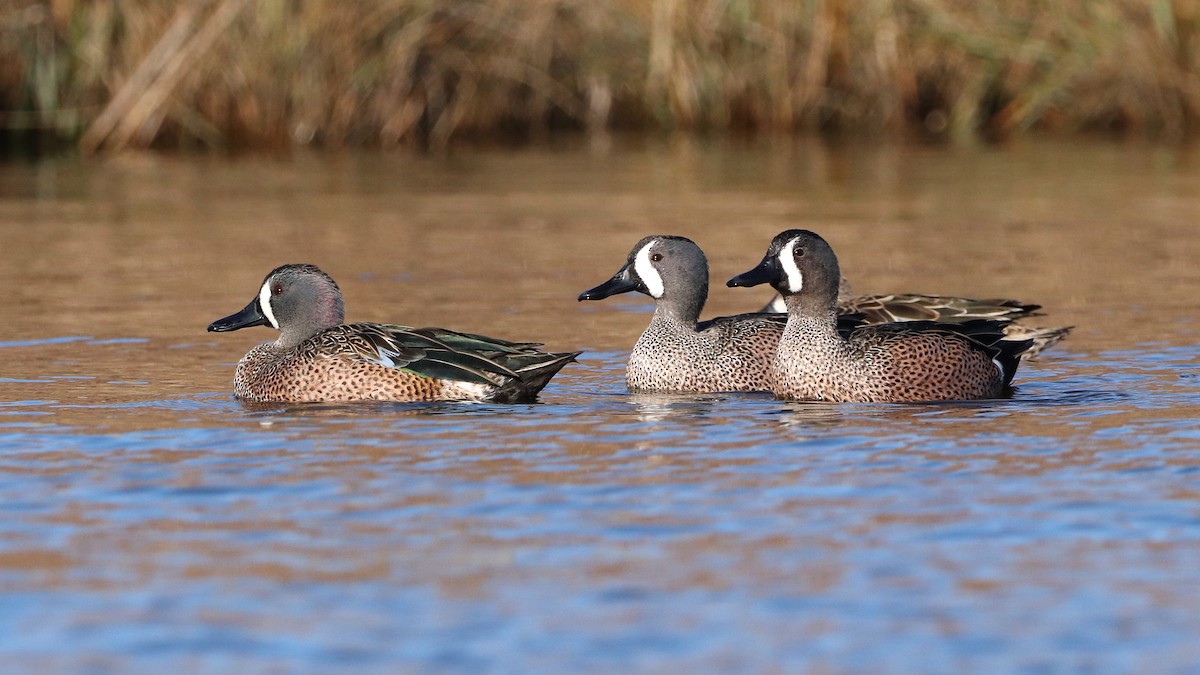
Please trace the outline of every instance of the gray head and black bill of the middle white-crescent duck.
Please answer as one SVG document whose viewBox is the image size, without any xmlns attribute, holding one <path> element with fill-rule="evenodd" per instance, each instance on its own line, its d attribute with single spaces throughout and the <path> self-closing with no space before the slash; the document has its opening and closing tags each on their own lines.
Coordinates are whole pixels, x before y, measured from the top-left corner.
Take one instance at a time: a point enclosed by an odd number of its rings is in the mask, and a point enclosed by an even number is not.
<svg viewBox="0 0 1200 675">
<path fill-rule="evenodd" d="M 602 300 L 629 291 L 654 298 L 658 312 L 695 323 L 708 299 L 708 258 L 686 237 L 647 237 L 629 252 L 625 267 L 608 281 L 581 293 L 580 300 Z"/>
</svg>

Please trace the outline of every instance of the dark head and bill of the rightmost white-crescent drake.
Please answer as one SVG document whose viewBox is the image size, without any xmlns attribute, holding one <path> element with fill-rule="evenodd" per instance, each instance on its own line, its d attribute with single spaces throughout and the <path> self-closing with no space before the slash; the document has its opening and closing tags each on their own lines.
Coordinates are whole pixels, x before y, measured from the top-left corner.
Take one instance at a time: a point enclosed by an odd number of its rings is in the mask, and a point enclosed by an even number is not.
<svg viewBox="0 0 1200 675">
<path fill-rule="evenodd" d="M 728 281 L 730 286 L 770 283 L 788 307 L 836 311 L 841 271 L 829 243 L 808 229 L 787 229 L 770 241 L 758 267 Z"/>
</svg>

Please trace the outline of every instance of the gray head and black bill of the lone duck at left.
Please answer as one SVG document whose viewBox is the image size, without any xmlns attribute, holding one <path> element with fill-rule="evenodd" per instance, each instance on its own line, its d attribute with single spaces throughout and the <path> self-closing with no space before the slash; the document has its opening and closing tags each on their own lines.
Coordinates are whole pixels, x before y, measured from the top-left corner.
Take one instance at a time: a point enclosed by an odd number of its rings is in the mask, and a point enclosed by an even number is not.
<svg viewBox="0 0 1200 675">
<path fill-rule="evenodd" d="M 210 331 L 223 333 L 251 325 L 270 325 L 280 331 L 277 346 L 288 348 L 346 318 L 342 289 L 317 265 L 287 264 L 275 268 L 258 295 L 240 312 L 214 321 Z"/>
</svg>

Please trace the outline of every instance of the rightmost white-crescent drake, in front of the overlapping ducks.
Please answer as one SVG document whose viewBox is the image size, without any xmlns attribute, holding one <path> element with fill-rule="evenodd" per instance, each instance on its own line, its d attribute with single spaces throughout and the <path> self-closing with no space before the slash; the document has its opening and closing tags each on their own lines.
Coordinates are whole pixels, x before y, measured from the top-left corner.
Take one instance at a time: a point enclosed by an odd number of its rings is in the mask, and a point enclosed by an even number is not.
<svg viewBox="0 0 1200 675">
<path fill-rule="evenodd" d="M 730 286 L 770 283 L 787 304 L 772 363 L 781 399 L 908 402 L 988 399 L 1012 383 L 1032 341 L 1002 340 L 1003 322 L 907 322 L 838 330 L 838 257 L 818 234 L 788 229 Z"/>
</svg>

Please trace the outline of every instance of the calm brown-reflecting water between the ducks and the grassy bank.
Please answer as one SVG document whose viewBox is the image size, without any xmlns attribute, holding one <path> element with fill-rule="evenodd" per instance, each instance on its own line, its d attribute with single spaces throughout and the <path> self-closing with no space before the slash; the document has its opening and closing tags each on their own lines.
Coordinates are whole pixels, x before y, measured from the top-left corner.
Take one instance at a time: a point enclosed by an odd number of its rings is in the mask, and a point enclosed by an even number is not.
<svg viewBox="0 0 1200 675">
<path fill-rule="evenodd" d="M 1079 348 L 1117 348 L 1196 307 L 1198 175 L 1189 150 L 1079 144 L 11 166 L 4 273 L 25 321 L 6 335 L 206 342 L 191 328 L 271 267 L 313 261 L 356 318 L 617 348 L 642 317 L 574 298 L 632 241 L 691 235 L 721 281 L 799 225 L 863 292 L 1031 298 L 1081 325 Z M 718 313 L 760 300 L 712 292 Z"/>
</svg>

